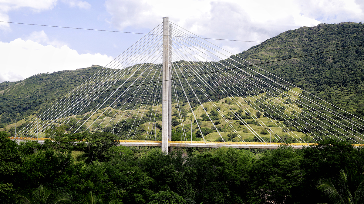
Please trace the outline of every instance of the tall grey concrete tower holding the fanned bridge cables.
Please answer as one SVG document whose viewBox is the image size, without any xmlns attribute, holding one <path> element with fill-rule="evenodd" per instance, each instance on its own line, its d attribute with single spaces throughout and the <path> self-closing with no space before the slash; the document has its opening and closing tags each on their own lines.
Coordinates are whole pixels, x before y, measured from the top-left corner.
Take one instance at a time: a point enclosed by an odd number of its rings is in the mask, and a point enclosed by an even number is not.
<svg viewBox="0 0 364 204">
<path fill-rule="evenodd" d="M 162 151 L 168 153 L 168 141 L 172 137 L 172 75 L 169 18 L 163 18 L 163 82 L 162 82 Z M 169 81 L 166 81 L 169 80 Z"/>
</svg>

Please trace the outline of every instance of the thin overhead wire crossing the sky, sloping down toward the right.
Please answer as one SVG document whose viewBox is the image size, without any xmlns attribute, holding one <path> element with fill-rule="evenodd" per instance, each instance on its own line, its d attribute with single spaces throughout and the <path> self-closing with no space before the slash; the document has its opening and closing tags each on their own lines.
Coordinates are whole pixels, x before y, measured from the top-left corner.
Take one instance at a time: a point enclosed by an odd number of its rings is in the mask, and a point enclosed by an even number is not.
<svg viewBox="0 0 364 204">
<path fill-rule="evenodd" d="M 94 31 L 114 32 L 114 33 L 130 33 L 130 34 L 143 34 L 143 35 L 156 35 L 156 36 L 162 36 L 162 34 L 136 33 L 136 32 L 125 32 L 125 31 L 116 31 L 116 30 L 100 30 L 100 29 L 90 29 L 90 28 L 74 28 L 74 27 L 56 26 L 56 25 L 40 25 L 40 24 L 30 24 L 30 23 L 16 23 L 16 22 L 8 22 L 8 21 L 0 21 L 0 23 L 13 23 L 13 24 L 22 24 L 22 25 L 37 25 L 37 26 L 46 26 L 46 27 L 53 27 L 53 28 L 70 28 L 70 29 L 79 29 L 79 30 L 94 30 Z M 187 37 L 187 36 L 172 36 L 172 37 Z M 229 39 L 204 38 L 204 37 L 188 37 L 188 38 L 200 38 L 200 39 L 207 39 L 207 40 L 238 41 L 238 42 L 259 42 L 259 41 L 248 41 L 248 40 L 229 40 Z M 259 43 L 261 43 L 261 42 L 259 42 Z"/>
</svg>

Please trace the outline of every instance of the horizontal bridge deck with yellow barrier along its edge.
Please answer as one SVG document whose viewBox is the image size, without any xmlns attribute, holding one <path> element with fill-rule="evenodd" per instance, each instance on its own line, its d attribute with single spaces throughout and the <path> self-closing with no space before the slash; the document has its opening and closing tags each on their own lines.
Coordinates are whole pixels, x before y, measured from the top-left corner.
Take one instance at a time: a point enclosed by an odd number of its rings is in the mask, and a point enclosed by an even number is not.
<svg viewBox="0 0 364 204">
<path fill-rule="evenodd" d="M 10 137 L 11 140 L 16 140 L 18 143 L 26 140 L 35 140 L 40 144 L 44 143 L 47 138 L 21 138 Z M 162 141 L 155 140 L 118 140 L 118 146 L 139 146 L 139 147 L 161 147 Z M 203 141 L 168 141 L 170 147 L 205 147 L 205 148 L 219 148 L 219 147 L 233 147 L 233 148 L 257 148 L 257 149 L 277 149 L 284 143 L 265 143 L 265 142 L 203 142 Z M 299 149 L 307 147 L 315 143 L 290 143 L 289 146 Z M 355 147 L 363 146 L 363 144 L 354 144 Z"/>
</svg>

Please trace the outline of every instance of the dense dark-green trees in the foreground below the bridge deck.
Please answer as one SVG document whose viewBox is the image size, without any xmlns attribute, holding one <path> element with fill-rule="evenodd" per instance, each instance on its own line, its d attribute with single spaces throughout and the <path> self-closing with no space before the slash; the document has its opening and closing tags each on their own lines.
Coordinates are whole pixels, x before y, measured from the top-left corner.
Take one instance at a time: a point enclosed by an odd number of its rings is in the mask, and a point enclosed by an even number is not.
<svg viewBox="0 0 364 204">
<path fill-rule="evenodd" d="M 329 179 L 343 196 L 340 170 L 362 174 L 364 165 L 364 148 L 335 140 L 302 149 L 185 148 L 166 155 L 160 148 L 118 147 L 106 132 L 42 145 L 8 136 L 0 132 L 1 203 L 21 203 L 45 190 L 75 204 L 90 192 L 104 203 L 124 204 L 330 203 L 319 182 Z"/>
</svg>

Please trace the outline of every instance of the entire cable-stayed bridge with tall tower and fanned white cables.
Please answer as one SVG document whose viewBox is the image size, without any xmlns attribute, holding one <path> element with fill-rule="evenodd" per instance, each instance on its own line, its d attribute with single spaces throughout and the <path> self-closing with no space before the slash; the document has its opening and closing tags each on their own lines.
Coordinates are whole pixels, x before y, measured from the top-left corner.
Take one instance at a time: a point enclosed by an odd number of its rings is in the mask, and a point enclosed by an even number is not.
<svg viewBox="0 0 364 204">
<path fill-rule="evenodd" d="M 163 151 L 173 146 L 276 148 L 288 140 L 302 147 L 324 138 L 360 144 L 363 124 L 163 18 L 14 136 L 39 140 L 111 132 L 123 140 L 120 145 Z M 176 135 L 181 141 L 172 141 Z M 259 143 L 250 144 L 250 138 Z"/>
</svg>

